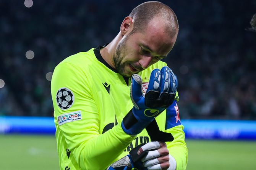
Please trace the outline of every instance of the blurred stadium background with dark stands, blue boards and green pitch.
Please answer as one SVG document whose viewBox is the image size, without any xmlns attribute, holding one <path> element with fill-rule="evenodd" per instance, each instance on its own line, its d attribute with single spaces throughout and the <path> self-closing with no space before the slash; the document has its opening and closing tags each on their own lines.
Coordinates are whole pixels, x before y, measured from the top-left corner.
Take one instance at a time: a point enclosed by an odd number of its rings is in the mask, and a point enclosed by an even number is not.
<svg viewBox="0 0 256 170">
<path fill-rule="evenodd" d="M 0 0 L 0 169 L 58 168 L 50 81 L 66 57 L 108 43 L 141 0 Z M 179 80 L 188 170 L 256 167 L 256 1 L 161 0 L 180 32 L 165 62 Z"/>
</svg>

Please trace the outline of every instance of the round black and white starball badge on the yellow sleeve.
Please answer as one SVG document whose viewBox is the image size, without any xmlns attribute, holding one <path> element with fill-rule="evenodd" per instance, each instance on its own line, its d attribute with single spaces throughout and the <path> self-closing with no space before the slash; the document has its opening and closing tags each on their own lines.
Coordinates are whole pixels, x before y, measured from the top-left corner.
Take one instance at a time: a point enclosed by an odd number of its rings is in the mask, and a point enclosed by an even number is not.
<svg viewBox="0 0 256 170">
<path fill-rule="evenodd" d="M 61 88 L 56 94 L 56 102 L 61 110 L 69 109 L 74 103 L 74 95 L 68 88 Z"/>
</svg>

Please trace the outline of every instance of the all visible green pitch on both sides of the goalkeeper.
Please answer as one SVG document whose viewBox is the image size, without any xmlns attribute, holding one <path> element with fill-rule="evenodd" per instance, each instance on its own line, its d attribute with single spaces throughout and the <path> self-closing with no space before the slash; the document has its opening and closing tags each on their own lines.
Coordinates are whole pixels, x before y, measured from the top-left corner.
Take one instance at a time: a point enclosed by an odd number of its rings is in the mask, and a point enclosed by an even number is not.
<svg viewBox="0 0 256 170">
<path fill-rule="evenodd" d="M 187 170 L 256 169 L 256 141 L 186 140 Z M 1 170 L 58 170 L 54 136 L 0 135 Z"/>
</svg>

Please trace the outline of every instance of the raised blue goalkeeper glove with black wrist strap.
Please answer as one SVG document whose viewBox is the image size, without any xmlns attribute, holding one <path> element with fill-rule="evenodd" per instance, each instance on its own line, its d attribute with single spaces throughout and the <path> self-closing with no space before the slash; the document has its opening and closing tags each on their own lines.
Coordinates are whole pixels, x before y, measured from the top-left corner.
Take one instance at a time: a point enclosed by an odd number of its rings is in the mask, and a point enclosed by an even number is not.
<svg viewBox="0 0 256 170">
<path fill-rule="evenodd" d="M 169 67 L 154 69 L 149 78 L 146 94 L 142 91 L 139 75 L 131 78 L 132 110 L 122 121 L 122 128 L 129 135 L 140 133 L 162 111 L 170 106 L 177 92 L 177 76 Z"/>
</svg>

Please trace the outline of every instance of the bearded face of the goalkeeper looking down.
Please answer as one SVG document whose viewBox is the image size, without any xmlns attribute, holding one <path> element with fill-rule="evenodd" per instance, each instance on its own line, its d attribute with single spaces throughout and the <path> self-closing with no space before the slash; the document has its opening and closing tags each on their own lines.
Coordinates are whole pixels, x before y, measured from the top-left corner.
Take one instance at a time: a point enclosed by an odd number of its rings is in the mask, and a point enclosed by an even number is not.
<svg viewBox="0 0 256 170">
<path fill-rule="evenodd" d="M 144 32 L 124 36 L 114 54 L 118 73 L 131 77 L 165 58 L 171 51 L 177 35 L 170 37 L 159 25 L 151 25 Z"/>
</svg>

